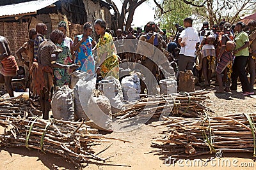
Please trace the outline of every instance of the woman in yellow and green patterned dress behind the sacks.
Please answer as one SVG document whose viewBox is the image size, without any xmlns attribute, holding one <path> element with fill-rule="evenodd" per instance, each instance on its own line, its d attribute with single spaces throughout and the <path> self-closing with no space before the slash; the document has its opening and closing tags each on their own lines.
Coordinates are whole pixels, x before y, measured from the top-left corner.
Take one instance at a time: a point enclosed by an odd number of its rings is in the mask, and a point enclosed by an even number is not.
<svg viewBox="0 0 256 170">
<path fill-rule="evenodd" d="M 94 23 L 96 34 L 100 36 L 97 43 L 97 59 L 100 66 L 100 74 L 102 78 L 114 76 L 119 78 L 119 57 L 116 55 L 116 48 L 111 34 L 106 32 L 106 22 L 104 20 L 96 20 Z"/>
</svg>

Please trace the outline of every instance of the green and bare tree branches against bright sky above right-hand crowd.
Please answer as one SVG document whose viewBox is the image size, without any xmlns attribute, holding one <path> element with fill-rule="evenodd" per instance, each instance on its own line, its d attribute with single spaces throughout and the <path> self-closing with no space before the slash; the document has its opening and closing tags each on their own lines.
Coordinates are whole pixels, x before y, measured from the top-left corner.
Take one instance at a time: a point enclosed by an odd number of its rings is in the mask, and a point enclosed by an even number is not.
<svg viewBox="0 0 256 170">
<path fill-rule="evenodd" d="M 166 29 L 167 35 L 172 36 L 176 31 L 175 23 L 183 25 L 183 19 L 189 16 L 193 16 L 193 25 L 197 26 L 204 21 L 218 24 L 223 18 L 234 24 L 241 16 L 256 12 L 255 9 L 256 0 L 161 0 L 156 20 Z"/>
</svg>

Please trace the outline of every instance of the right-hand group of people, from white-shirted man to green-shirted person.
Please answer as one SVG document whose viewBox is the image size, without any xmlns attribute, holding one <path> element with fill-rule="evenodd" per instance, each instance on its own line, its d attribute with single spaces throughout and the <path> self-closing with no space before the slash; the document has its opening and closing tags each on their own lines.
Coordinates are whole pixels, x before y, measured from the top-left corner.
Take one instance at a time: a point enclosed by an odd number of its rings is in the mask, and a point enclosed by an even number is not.
<svg viewBox="0 0 256 170">
<path fill-rule="evenodd" d="M 241 81 L 242 94 L 251 95 L 255 82 L 255 29 L 256 21 L 248 25 L 237 22 L 231 25 L 221 21 L 219 25 L 204 22 L 199 32 L 192 27 L 193 20 L 184 20 L 184 31 L 180 32 L 179 71 L 192 70 L 198 78 L 204 77 L 200 85 L 210 85 L 215 73 L 219 88 L 216 93 L 237 90 L 237 78 Z M 195 52 L 197 55 L 195 55 Z M 197 59 L 197 62 L 196 62 Z M 195 69 L 195 63 L 198 68 Z M 248 71 L 246 71 L 248 66 Z M 247 73 L 250 74 L 248 81 Z M 254 75 L 254 76 L 253 76 Z M 223 89 L 223 85 L 225 89 Z"/>
</svg>

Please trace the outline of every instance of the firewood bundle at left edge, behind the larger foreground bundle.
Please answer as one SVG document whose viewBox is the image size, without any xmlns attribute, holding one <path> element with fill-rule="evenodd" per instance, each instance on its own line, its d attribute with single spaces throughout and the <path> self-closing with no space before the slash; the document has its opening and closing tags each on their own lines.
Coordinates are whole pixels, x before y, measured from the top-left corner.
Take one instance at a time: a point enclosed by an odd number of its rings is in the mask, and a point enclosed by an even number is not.
<svg viewBox="0 0 256 170">
<path fill-rule="evenodd" d="M 13 117 L 33 117 L 42 115 L 40 106 L 22 98 L 17 97 L 0 98 L 0 120 Z"/>
</svg>

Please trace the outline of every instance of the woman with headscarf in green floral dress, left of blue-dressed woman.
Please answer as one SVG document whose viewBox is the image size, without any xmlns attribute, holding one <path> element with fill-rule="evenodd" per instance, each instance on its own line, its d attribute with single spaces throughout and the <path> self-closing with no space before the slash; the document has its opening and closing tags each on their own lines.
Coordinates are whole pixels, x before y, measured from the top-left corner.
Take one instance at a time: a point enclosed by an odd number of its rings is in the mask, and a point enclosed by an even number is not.
<svg viewBox="0 0 256 170">
<path fill-rule="evenodd" d="M 72 49 L 73 41 L 71 38 L 66 36 L 67 32 L 67 24 L 64 21 L 61 21 L 58 24 L 58 29 L 63 32 L 65 35 L 65 39 L 61 42 L 61 44 L 56 44 L 58 48 L 62 50 L 61 53 L 58 54 L 56 62 L 64 65 L 72 64 L 72 53 L 74 52 Z M 71 80 L 71 69 L 60 69 L 54 68 L 54 85 L 58 87 L 63 87 L 64 85 L 69 85 Z"/>
</svg>

